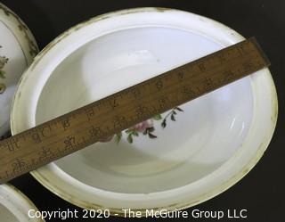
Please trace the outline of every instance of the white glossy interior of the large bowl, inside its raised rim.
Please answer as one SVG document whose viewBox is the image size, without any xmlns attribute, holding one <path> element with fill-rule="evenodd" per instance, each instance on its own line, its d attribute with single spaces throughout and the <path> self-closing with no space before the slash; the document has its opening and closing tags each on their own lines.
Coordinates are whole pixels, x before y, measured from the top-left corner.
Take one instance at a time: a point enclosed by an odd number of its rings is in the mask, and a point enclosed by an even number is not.
<svg viewBox="0 0 285 222">
<path fill-rule="evenodd" d="M 37 124 L 133 86 L 223 46 L 197 33 L 134 28 L 94 38 L 54 70 L 37 102 Z M 118 193 L 153 193 L 188 185 L 232 157 L 253 113 L 250 79 L 243 78 L 180 106 L 175 121 L 151 120 L 151 139 L 90 145 L 55 162 L 85 185 Z M 162 114 L 166 117 L 169 112 Z"/>
</svg>

